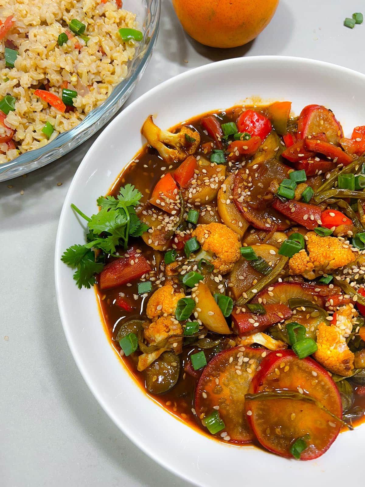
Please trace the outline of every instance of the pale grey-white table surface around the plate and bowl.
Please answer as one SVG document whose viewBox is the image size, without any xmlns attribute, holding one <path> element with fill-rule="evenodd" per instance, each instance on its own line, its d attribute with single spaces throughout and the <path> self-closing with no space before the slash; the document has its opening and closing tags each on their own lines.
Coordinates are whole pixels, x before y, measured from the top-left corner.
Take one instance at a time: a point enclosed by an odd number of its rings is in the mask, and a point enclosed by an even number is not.
<svg viewBox="0 0 365 487">
<path fill-rule="evenodd" d="M 188 38 L 171 1 L 163 0 L 156 50 L 128 103 L 171 76 L 229 57 L 311 57 L 365 73 L 365 23 L 343 26 L 345 17 L 362 10 L 361 0 L 280 0 L 256 40 L 217 50 Z M 187 486 L 114 426 L 63 334 L 55 235 L 73 174 L 92 141 L 27 177 L 0 183 L 0 486 Z"/>
</svg>

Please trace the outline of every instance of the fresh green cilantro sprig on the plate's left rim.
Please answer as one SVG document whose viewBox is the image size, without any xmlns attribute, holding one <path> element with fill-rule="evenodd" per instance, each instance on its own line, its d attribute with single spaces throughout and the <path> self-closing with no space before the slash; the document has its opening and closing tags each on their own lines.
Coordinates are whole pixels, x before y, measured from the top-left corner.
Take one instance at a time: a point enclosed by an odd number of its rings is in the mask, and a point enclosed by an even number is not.
<svg viewBox="0 0 365 487">
<path fill-rule="evenodd" d="M 148 230 L 148 225 L 138 218 L 135 207 L 142 194 L 134 186 L 121 187 L 116 198 L 100 196 L 97 199 L 100 211 L 91 218 L 77 206 L 73 210 L 88 222 L 89 233 L 86 244 L 69 247 L 61 257 L 62 262 L 76 269 L 73 279 L 79 289 L 90 288 L 95 284 L 95 275 L 102 271 L 105 257 L 115 255 L 116 247 L 127 249 L 129 237 L 140 237 Z M 95 250 L 97 251 L 95 253 Z"/>
</svg>

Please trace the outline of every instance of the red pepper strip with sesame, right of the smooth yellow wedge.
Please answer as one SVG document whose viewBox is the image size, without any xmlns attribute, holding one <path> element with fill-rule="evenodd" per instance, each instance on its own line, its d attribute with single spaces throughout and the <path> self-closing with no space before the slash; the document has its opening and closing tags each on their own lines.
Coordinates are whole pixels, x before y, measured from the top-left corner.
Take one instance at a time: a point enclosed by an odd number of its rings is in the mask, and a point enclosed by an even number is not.
<svg viewBox="0 0 365 487">
<path fill-rule="evenodd" d="M 256 315 L 249 312 L 248 309 L 237 314 L 236 309 L 234 309 L 231 315 L 233 332 L 240 337 L 263 332 L 269 326 L 292 316 L 292 310 L 285 304 L 267 304 L 264 308 L 265 315 Z"/>
</svg>

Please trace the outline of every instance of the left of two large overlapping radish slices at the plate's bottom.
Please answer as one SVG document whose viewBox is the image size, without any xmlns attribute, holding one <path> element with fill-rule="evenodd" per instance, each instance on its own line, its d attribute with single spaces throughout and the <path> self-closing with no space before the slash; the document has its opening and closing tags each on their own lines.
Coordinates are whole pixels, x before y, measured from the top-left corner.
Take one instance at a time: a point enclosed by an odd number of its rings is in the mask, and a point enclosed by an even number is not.
<svg viewBox="0 0 365 487">
<path fill-rule="evenodd" d="M 223 431 L 230 436 L 231 442 L 248 443 L 253 439 L 245 414 L 245 394 L 263 356 L 268 353 L 242 346 L 223 350 L 212 358 L 201 374 L 195 392 L 195 411 L 203 419 L 202 414 L 208 415 L 219 406 L 219 416 L 225 424 Z M 247 358 L 249 360 L 243 361 Z"/>
</svg>

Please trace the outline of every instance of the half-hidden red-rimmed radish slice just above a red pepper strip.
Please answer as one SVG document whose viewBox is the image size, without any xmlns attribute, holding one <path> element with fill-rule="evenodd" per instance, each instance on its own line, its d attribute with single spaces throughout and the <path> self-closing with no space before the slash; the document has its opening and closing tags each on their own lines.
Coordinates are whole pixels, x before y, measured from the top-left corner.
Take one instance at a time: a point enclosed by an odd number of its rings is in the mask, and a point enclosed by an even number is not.
<svg viewBox="0 0 365 487">
<path fill-rule="evenodd" d="M 267 304 L 288 304 L 288 300 L 292 298 L 300 298 L 310 300 L 321 307 L 325 306 L 326 301 L 330 296 L 340 294 L 341 289 L 338 286 L 330 288 L 326 284 L 307 284 L 304 282 L 276 282 L 266 287 L 256 294 L 251 301 L 253 303 Z"/>
</svg>

